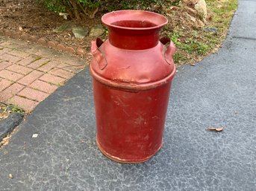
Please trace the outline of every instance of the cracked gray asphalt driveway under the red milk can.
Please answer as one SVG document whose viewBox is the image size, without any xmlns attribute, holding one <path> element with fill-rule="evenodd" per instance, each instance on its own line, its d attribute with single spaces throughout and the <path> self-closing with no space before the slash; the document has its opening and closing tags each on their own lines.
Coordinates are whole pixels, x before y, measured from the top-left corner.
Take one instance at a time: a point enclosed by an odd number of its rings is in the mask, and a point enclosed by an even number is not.
<svg viewBox="0 0 256 191">
<path fill-rule="evenodd" d="M 240 1 L 219 53 L 178 68 L 163 149 L 150 161 L 118 164 L 97 149 L 86 69 L 40 103 L 0 149 L 0 190 L 255 191 L 255 26 L 256 1 Z M 210 126 L 224 131 L 206 131 Z"/>
</svg>

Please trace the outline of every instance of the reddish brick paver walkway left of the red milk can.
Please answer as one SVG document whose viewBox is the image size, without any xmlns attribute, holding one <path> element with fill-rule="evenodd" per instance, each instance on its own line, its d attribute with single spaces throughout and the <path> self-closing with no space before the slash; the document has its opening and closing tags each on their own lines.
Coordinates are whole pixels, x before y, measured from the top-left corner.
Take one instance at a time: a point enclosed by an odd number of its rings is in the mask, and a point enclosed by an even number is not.
<svg viewBox="0 0 256 191">
<path fill-rule="evenodd" d="M 32 111 L 85 65 L 78 57 L 0 36 L 0 102 Z"/>
</svg>

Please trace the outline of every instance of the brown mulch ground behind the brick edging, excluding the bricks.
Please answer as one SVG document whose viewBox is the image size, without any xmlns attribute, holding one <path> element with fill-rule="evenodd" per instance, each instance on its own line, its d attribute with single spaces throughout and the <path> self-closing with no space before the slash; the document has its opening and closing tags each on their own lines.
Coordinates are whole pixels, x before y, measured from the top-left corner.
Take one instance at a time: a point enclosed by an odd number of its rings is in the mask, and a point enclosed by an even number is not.
<svg viewBox="0 0 256 191">
<path fill-rule="evenodd" d="M 54 29 L 66 22 L 73 25 L 93 27 L 100 24 L 100 16 L 95 19 L 87 19 L 83 22 L 75 22 L 63 19 L 57 13 L 52 13 L 37 4 L 34 0 L 12 0 L 0 5 L 0 28 L 15 31 L 16 33 L 28 33 L 55 40 L 75 48 L 90 50 L 90 42 L 93 39 L 86 36 L 84 39 L 75 39 L 71 31 L 56 33 Z"/>
</svg>

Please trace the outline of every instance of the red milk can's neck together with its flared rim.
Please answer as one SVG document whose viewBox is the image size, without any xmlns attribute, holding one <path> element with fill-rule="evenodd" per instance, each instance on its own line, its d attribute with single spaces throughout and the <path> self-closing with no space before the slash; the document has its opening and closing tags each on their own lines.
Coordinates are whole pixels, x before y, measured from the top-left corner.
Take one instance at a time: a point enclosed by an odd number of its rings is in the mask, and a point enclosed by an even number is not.
<svg viewBox="0 0 256 191">
<path fill-rule="evenodd" d="M 153 48 L 159 40 L 166 17 L 144 10 L 118 10 L 104 14 L 111 45 L 129 50 Z"/>
</svg>

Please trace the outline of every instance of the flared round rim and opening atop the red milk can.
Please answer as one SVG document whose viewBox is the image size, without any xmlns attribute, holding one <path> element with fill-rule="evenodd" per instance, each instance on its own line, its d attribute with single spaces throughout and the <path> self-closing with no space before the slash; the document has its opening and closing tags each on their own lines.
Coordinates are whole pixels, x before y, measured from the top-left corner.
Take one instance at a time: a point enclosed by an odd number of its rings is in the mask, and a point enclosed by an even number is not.
<svg viewBox="0 0 256 191">
<path fill-rule="evenodd" d="M 107 27 L 130 30 L 157 29 L 166 25 L 166 17 L 145 10 L 118 10 L 102 16 L 102 22 Z"/>
</svg>

